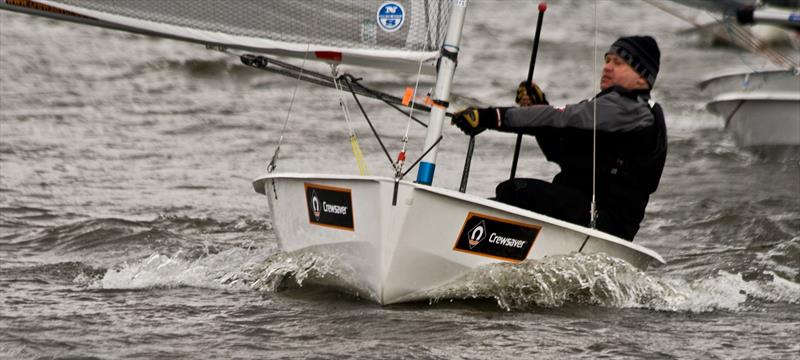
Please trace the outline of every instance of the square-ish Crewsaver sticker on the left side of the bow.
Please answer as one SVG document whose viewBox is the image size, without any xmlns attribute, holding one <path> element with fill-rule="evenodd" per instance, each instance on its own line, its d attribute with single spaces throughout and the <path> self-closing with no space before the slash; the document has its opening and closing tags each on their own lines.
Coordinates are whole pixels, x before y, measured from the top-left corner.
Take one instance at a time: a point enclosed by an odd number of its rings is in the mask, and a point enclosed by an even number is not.
<svg viewBox="0 0 800 360">
<path fill-rule="evenodd" d="M 308 222 L 336 229 L 355 229 L 350 189 L 304 183 Z"/>
</svg>

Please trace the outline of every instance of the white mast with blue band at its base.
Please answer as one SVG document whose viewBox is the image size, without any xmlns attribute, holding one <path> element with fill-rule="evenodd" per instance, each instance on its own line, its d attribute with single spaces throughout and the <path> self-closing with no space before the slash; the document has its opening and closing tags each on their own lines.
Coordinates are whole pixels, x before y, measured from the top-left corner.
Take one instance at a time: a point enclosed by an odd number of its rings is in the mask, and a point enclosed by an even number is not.
<svg viewBox="0 0 800 360">
<path fill-rule="evenodd" d="M 450 13 L 450 23 L 447 35 L 442 43 L 439 69 L 436 75 L 436 88 L 433 93 L 433 106 L 431 107 L 431 120 L 428 123 L 428 133 L 425 135 L 424 149 L 431 149 L 419 164 L 417 182 L 424 185 L 433 183 L 433 173 L 436 170 L 436 153 L 438 141 L 442 136 L 447 106 L 450 99 L 450 85 L 456 71 L 459 45 L 461 43 L 461 29 L 464 26 L 464 17 L 467 13 L 468 0 L 453 0 Z"/>
</svg>

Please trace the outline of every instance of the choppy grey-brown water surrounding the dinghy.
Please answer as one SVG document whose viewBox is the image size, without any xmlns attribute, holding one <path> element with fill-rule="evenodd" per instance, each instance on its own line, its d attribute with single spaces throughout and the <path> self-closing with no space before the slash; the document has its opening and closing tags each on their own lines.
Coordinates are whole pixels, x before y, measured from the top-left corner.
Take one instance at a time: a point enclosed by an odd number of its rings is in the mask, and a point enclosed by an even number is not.
<svg viewBox="0 0 800 360">
<path fill-rule="evenodd" d="M 472 5 L 454 91 L 510 105 L 535 4 Z M 499 265 L 382 307 L 309 285 L 337 270 L 279 252 L 250 185 L 292 79 L 196 45 L 0 13 L 0 357 L 800 358 L 800 164 L 736 147 L 695 87 L 763 61 L 677 35 L 680 20 L 638 1 L 601 1 L 597 16 L 601 54 L 638 32 L 662 48 L 670 149 L 636 242 L 668 264 Z M 535 77 L 551 102 L 592 95 L 592 3 L 550 2 L 543 31 Z M 363 75 L 392 93 L 414 83 Z M 279 170 L 357 171 L 336 101 L 299 88 Z M 406 119 L 364 103 L 394 154 Z M 388 175 L 356 119 L 370 170 Z M 412 126 L 411 159 L 422 135 Z M 445 136 L 436 183 L 456 188 L 466 138 Z M 479 137 L 471 192 L 491 195 L 512 148 L 511 135 Z M 533 141 L 523 154 L 520 176 L 557 171 Z"/>
</svg>

